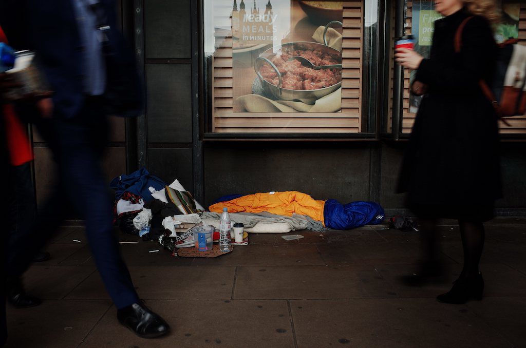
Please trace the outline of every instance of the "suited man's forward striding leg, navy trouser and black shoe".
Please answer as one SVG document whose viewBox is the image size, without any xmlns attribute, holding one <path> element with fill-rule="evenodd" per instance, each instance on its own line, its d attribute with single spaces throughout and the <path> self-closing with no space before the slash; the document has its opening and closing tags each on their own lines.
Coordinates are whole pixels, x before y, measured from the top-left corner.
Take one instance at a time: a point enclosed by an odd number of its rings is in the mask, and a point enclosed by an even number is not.
<svg viewBox="0 0 526 348">
<path fill-rule="evenodd" d="M 96 101 L 88 99 L 77 118 L 57 122 L 63 190 L 86 221 L 88 243 L 119 321 L 141 337 L 156 337 L 169 326 L 139 301 L 113 234 L 112 202 L 100 166 L 106 134 L 102 115 Z"/>
</svg>

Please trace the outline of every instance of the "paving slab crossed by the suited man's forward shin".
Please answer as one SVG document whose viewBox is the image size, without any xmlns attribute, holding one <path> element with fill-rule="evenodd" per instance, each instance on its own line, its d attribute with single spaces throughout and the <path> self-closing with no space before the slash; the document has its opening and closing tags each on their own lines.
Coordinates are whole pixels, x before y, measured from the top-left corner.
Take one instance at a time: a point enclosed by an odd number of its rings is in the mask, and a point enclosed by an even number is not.
<svg viewBox="0 0 526 348">
<path fill-rule="evenodd" d="M 225 299 L 232 295 L 235 267 L 129 267 L 139 298 Z M 67 300 L 109 299 L 98 272 L 90 275 Z"/>
</svg>

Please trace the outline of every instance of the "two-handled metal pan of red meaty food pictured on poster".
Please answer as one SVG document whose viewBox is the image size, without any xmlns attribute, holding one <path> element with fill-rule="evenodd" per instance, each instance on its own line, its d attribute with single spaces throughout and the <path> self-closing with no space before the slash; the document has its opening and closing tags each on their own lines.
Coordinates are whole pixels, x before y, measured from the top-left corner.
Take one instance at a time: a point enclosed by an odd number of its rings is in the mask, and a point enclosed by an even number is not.
<svg viewBox="0 0 526 348">
<path fill-rule="evenodd" d="M 323 33 L 325 43 L 325 34 L 332 23 L 341 25 L 338 21 L 327 24 Z M 298 56 L 310 60 L 313 68 L 296 60 Z M 256 58 L 254 69 L 265 93 L 278 100 L 315 104 L 341 87 L 341 52 L 326 44 L 290 42 L 271 47 Z"/>
</svg>

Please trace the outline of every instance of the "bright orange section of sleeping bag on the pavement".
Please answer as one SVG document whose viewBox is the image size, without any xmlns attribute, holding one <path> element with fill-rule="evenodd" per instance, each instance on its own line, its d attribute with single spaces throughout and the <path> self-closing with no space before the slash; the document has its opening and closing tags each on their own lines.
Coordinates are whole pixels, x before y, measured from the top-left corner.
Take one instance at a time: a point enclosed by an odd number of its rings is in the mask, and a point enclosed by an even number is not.
<svg viewBox="0 0 526 348">
<path fill-rule="evenodd" d="M 220 202 L 209 207 L 210 211 L 221 213 L 228 208 L 230 213 L 247 212 L 260 213 L 267 211 L 272 214 L 292 216 L 293 213 L 307 215 L 323 223 L 323 207 L 325 201 L 312 199 L 306 193 L 298 191 L 265 192 L 242 196 L 227 202 Z M 325 223 L 324 223 L 325 226 Z"/>
</svg>

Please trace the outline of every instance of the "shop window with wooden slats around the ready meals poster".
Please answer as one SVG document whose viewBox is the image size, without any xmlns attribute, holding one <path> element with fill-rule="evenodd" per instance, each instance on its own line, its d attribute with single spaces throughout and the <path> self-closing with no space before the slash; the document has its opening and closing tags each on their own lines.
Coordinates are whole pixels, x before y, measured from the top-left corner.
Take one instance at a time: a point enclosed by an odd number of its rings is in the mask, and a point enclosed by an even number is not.
<svg viewBox="0 0 526 348">
<path fill-rule="evenodd" d="M 378 0 L 204 0 L 203 19 L 205 135 L 375 134 Z"/>
</svg>

